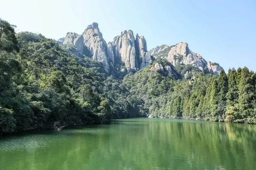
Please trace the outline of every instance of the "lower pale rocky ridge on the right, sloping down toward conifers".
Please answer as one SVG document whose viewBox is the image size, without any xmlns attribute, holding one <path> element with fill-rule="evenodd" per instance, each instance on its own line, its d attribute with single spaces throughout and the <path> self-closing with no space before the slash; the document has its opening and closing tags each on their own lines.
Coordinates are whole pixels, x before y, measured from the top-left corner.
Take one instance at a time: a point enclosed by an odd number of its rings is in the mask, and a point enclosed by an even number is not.
<svg viewBox="0 0 256 170">
<path fill-rule="evenodd" d="M 168 55 L 166 55 L 167 52 Z M 186 42 L 180 42 L 171 47 L 162 45 L 151 49 L 150 53 L 154 58 L 160 57 L 167 59 L 173 66 L 177 66 L 178 64 L 191 64 L 194 67 L 199 68 L 204 73 L 219 74 L 221 69 L 223 69 L 217 63 L 212 65 L 211 62 L 208 63 L 200 54 L 190 51 L 188 43 Z"/>
</svg>

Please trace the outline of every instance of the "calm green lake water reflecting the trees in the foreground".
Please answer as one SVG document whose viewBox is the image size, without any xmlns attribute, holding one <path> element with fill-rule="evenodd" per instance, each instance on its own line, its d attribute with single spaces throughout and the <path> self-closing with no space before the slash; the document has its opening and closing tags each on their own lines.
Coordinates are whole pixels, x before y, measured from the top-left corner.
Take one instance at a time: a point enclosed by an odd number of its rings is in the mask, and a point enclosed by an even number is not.
<svg viewBox="0 0 256 170">
<path fill-rule="evenodd" d="M 256 125 L 140 118 L 5 136 L 0 170 L 256 170 Z"/>
</svg>

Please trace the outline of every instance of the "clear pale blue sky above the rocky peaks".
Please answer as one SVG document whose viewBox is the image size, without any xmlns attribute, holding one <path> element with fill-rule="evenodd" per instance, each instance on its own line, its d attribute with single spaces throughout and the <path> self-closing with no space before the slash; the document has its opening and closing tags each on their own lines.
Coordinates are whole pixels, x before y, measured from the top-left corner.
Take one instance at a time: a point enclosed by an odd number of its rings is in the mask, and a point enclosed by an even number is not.
<svg viewBox="0 0 256 170">
<path fill-rule="evenodd" d="M 188 42 L 206 60 L 256 71 L 256 0 L 4 0 L 0 17 L 58 40 L 92 22 L 106 42 L 131 29 L 148 49 Z"/>
</svg>

